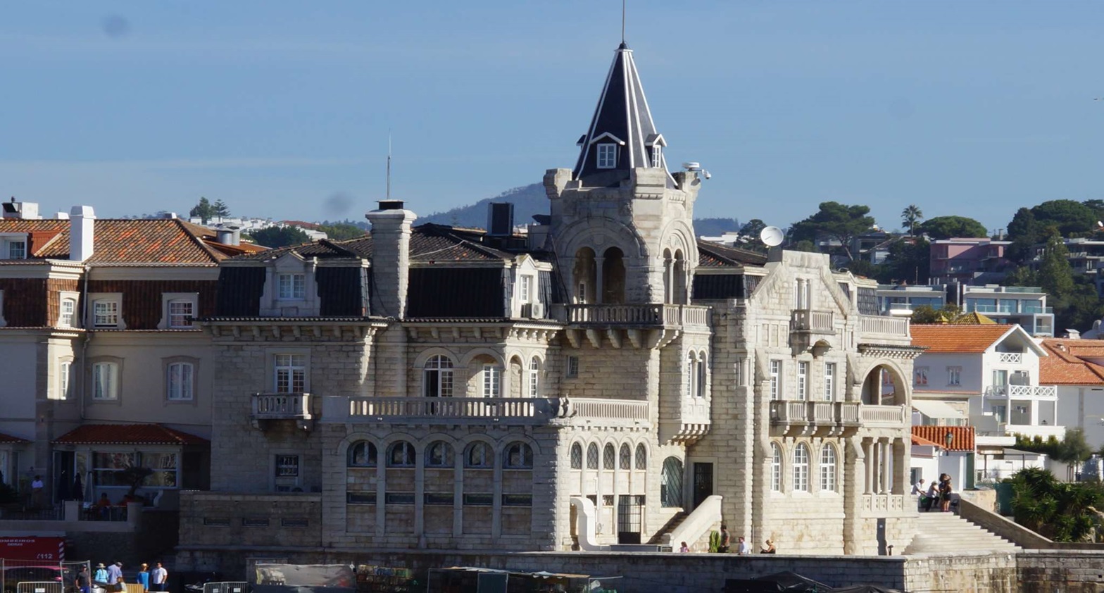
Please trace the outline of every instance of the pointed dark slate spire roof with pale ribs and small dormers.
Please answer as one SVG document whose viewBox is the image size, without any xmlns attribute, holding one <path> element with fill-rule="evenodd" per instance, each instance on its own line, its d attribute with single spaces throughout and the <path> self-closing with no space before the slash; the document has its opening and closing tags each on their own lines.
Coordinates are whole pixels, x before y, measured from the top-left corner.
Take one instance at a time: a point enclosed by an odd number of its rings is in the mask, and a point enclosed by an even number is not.
<svg viewBox="0 0 1104 593">
<path fill-rule="evenodd" d="M 573 178 L 591 187 L 615 187 L 628 179 L 634 168 L 651 167 L 650 147 L 666 145 L 651 120 L 633 51 L 625 42 L 614 53 L 614 62 L 598 96 L 598 106 L 594 109 L 591 126 L 578 141 L 578 161 L 575 163 Z M 598 169 L 596 145 L 599 142 L 619 146 L 616 168 Z M 661 161 L 660 166 L 666 170 L 666 158 L 661 158 Z M 670 173 L 667 178 L 668 184 L 675 187 Z"/>
</svg>

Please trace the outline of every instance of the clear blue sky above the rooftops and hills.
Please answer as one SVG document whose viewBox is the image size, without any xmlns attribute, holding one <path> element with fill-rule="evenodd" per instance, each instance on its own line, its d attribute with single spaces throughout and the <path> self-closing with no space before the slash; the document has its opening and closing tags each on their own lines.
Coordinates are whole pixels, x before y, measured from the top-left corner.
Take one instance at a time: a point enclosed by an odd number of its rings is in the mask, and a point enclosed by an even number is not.
<svg viewBox="0 0 1104 593">
<path fill-rule="evenodd" d="M 1104 198 L 1104 2 L 629 0 L 668 160 L 713 177 L 696 215 L 781 226 L 826 200 L 898 227 L 990 230 Z M 618 0 L 8 2 L 0 195 L 45 212 L 362 219 L 572 167 Z"/>
</svg>

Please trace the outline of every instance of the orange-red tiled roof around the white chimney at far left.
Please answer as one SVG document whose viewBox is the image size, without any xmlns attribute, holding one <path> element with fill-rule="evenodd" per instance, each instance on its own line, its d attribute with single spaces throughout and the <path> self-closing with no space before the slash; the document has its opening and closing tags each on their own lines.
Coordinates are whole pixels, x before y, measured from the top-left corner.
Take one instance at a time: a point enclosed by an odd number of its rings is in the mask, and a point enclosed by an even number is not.
<svg viewBox="0 0 1104 593">
<path fill-rule="evenodd" d="M 179 219 L 96 220 L 91 263 L 211 264 L 226 255 L 211 248 Z M 30 261 L 67 260 L 70 221 L 0 220 L 0 233 L 30 233 Z M 4 263 L 28 263 L 4 261 Z"/>
</svg>

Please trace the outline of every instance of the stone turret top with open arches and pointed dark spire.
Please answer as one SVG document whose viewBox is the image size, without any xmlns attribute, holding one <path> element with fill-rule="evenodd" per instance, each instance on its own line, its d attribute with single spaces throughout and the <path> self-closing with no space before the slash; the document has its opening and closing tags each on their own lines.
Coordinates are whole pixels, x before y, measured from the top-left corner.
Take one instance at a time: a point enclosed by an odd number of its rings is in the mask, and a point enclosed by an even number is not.
<svg viewBox="0 0 1104 593">
<path fill-rule="evenodd" d="M 701 180 L 671 174 L 633 52 L 617 47 L 573 170 L 551 169 L 550 237 L 574 304 L 689 303 Z"/>
</svg>

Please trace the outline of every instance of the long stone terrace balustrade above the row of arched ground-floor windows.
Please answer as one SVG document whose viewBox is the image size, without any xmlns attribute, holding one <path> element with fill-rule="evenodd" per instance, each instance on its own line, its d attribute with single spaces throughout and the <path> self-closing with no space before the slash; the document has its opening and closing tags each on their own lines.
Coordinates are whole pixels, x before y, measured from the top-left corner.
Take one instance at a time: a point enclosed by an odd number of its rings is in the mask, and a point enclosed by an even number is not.
<svg viewBox="0 0 1104 593">
<path fill-rule="evenodd" d="M 648 402 L 599 398 L 322 398 L 338 423 L 650 426 Z"/>
</svg>

